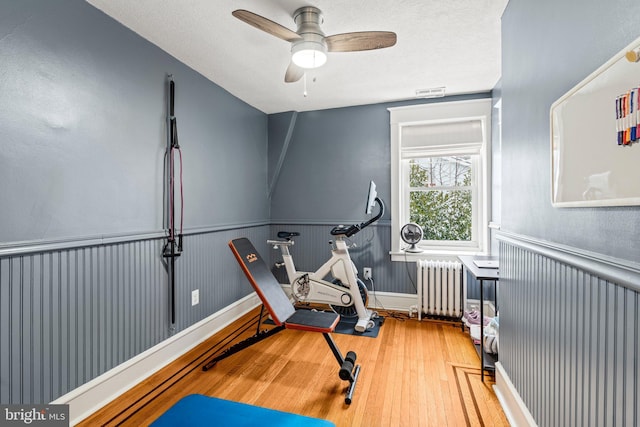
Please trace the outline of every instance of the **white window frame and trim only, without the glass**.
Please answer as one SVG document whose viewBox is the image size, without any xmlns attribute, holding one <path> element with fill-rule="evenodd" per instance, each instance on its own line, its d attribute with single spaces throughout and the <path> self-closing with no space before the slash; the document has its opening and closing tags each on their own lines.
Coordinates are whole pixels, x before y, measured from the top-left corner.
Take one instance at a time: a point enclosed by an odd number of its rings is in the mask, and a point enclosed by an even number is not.
<svg viewBox="0 0 640 427">
<path fill-rule="evenodd" d="M 391 132 L 391 259 L 415 261 L 436 257 L 452 259 L 457 255 L 486 254 L 489 247 L 488 221 L 491 218 L 491 98 L 467 101 L 434 102 L 428 104 L 389 108 Z M 464 121 L 479 121 L 482 141 L 472 143 L 443 143 L 439 145 L 402 146 L 403 129 L 407 126 L 440 125 Z M 411 153 L 407 155 L 407 153 Z M 410 157 L 436 157 L 446 155 L 472 155 L 478 165 L 472 168 L 472 240 L 464 242 L 422 241 L 419 254 L 406 253 L 400 239 L 400 228 L 409 221 L 409 174 L 406 172 Z M 473 181 L 475 182 L 475 185 Z M 477 196 L 477 197 L 474 197 Z"/>
</svg>

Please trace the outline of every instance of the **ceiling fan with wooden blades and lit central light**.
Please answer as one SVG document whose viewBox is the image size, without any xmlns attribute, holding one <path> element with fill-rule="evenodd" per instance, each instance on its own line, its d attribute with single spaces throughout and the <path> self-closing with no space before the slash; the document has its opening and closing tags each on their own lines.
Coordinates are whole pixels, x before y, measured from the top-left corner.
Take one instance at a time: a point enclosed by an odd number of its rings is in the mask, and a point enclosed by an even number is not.
<svg viewBox="0 0 640 427">
<path fill-rule="evenodd" d="M 327 52 L 383 49 L 396 44 L 396 34 L 390 31 L 361 31 L 325 36 L 320 28 L 323 22 L 322 12 L 313 6 L 301 7 L 293 13 L 297 31 L 248 10 L 234 10 L 232 15 L 291 43 L 291 61 L 284 76 L 287 83 L 300 80 L 305 69 L 322 66 L 327 61 Z"/>
</svg>

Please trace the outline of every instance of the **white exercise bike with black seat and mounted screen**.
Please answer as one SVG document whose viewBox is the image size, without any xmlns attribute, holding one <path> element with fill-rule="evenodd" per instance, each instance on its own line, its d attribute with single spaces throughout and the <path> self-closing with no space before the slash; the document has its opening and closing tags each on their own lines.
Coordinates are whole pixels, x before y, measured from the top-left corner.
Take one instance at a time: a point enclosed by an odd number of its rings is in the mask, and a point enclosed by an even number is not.
<svg viewBox="0 0 640 427">
<path fill-rule="evenodd" d="M 358 317 L 355 330 L 364 332 L 372 328 L 378 313 L 367 309 L 368 291 L 365 284 L 358 278 L 351 257 L 346 238 L 355 235 L 365 227 L 373 224 L 384 214 L 384 202 L 377 197 L 376 185 L 373 181 L 369 184 L 366 213 L 371 214 L 373 207 L 378 205 L 378 213 L 370 220 L 361 224 L 338 225 L 333 227 L 331 235 L 335 236 L 332 242 L 331 257 L 315 272 L 296 270 L 289 247 L 294 245 L 293 237 L 300 233 L 280 231 L 278 238 L 281 240 L 267 240 L 274 249 L 280 249 L 282 263 L 291 284 L 291 293 L 295 301 L 300 303 L 328 304 L 331 309 L 344 317 Z M 327 280 L 329 279 L 329 280 Z"/>
</svg>

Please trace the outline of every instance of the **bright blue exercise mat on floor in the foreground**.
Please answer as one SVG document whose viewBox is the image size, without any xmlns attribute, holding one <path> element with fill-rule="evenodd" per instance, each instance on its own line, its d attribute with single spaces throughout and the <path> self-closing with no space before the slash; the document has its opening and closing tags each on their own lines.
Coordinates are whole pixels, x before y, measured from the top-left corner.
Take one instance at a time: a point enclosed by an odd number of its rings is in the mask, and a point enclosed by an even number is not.
<svg viewBox="0 0 640 427">
<path fill-rule="evenodd" d="M 335 424 L 318 418 L 305 417 L 289 412 L 276 411 L 232 402 L 216 397 L 191 394 L 176 402 L 153 427 L 335 427 Z"/>
</svg>

